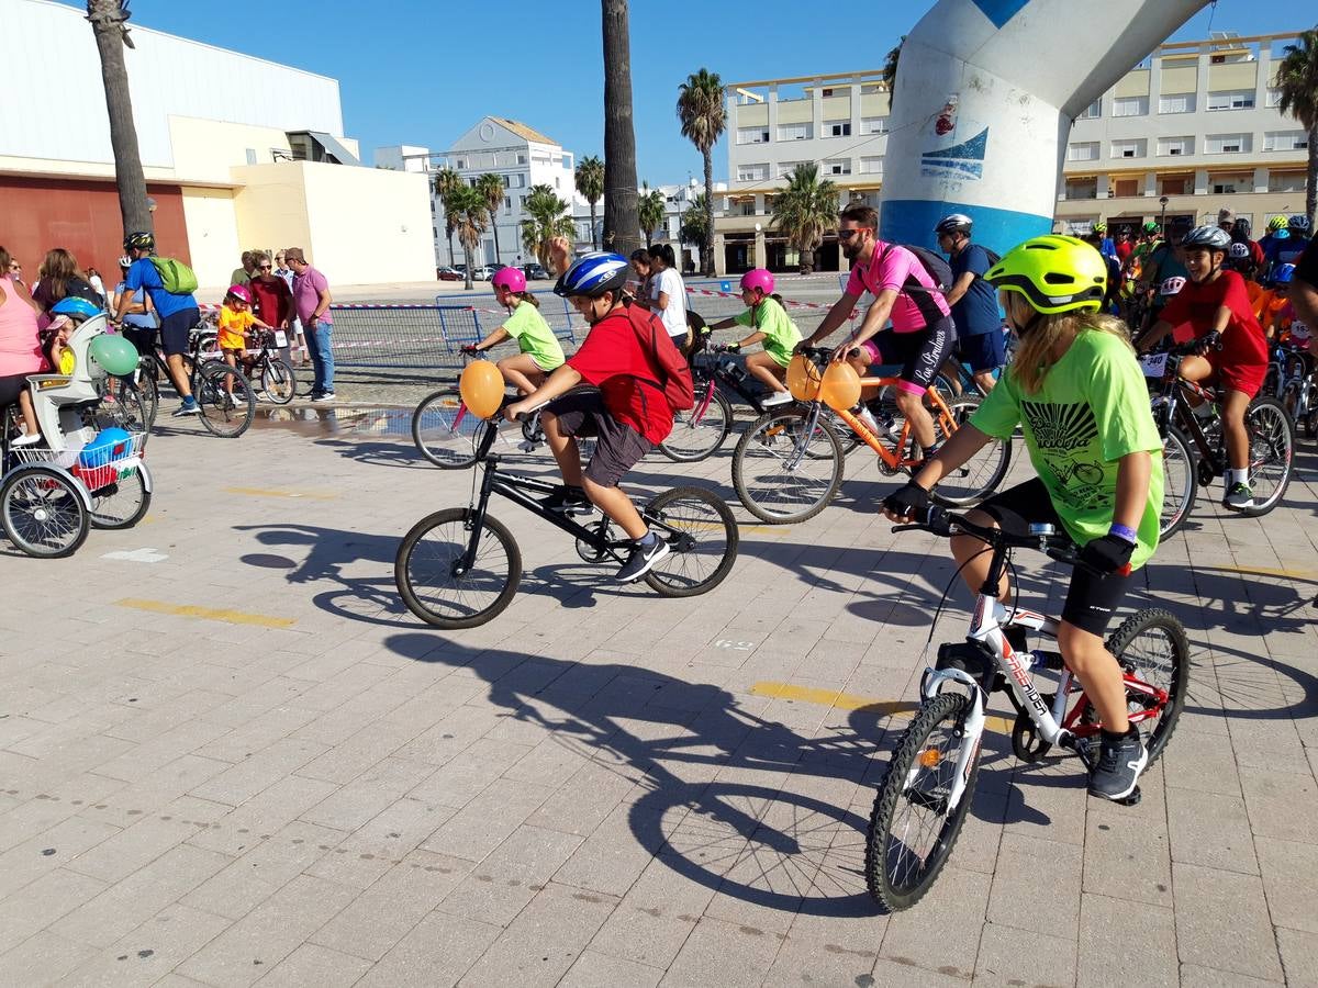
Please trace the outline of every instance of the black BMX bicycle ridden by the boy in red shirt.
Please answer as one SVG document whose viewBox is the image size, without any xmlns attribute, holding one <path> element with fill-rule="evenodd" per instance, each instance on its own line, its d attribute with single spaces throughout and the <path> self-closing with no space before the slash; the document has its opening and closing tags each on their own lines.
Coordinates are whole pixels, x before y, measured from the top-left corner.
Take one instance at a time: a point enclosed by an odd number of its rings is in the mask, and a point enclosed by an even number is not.
<svg viewBox="0 0 1318 988">
<path fill-rule="evenodd" d="M 476 627 L 513 602 L 522 578 L 522 552 L 507 527 L 489 514 L 492 494 L 572 535 L 584 563 L 621 565 L 634 544 L 608 518 L 596 515 L 581 524 L 544 507 L 532 494 L 552 494 L 555 485 L 501 470 L 500 457 L 490 452 L 497 436 L 493 428 L 478 433 L 476 461 L 485 472 L 472 503 L 427 515 L 398 547 L 394 582 L 407 609 L 427 624 Z M 660 597 L 709 593 L 737 561 L 737 522 L 728 505 L 708 490 L 666 490 L 641 516 L 668 543 L 668 555 L 645 576 Z"/>
</svg>

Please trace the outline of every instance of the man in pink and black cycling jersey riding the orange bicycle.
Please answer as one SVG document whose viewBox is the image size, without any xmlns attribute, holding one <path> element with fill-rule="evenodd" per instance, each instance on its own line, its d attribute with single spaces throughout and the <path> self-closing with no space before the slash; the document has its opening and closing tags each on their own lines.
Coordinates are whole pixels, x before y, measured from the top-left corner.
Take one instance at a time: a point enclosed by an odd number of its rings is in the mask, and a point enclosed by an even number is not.
<svg viewBox="0 0 1318 988">
<path fill-rule="evenodd" d="M 924 407 L 924 393 L 952 356 L 957 333 L 952 310 L 920 258 L 904 246 L 879 240 L 878 227 L 878 213 L 869 206 L 849 206 L 838 216 L 837 238 L 851 262 L 851 277 L 842 298 L 797 349 L 826 340 L 850 317 L 861 295 L 874 295 L 861 328 L 837 348 L 834 360 L 850 360 L 862 377 L 870 364 L 902 365 L 898 408 L 928 456 L 937 433 Z M 891 332 L 882 332 L 890 317 Z"/>
</svg>

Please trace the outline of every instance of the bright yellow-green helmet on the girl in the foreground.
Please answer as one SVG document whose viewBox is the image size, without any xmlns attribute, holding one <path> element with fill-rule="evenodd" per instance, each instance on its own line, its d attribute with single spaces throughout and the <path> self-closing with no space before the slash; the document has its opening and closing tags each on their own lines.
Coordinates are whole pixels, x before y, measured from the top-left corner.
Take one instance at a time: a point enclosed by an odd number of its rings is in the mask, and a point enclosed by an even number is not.
<svg viewBox="0 0 1318 988">
<path fill-rule="evenodd" d="M 1107 292 L 1107 262 L 1083 240 L 1049 233 L 1014 246 L 985 281 L 1019 291 L 1046 315 L 1098 312 Z"/>
</svg>

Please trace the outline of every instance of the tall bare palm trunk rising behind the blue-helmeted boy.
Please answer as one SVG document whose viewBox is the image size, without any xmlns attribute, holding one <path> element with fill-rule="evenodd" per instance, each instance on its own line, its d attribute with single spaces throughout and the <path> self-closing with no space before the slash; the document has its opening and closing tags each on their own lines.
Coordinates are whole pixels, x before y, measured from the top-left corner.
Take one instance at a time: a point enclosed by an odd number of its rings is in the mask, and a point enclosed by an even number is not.
<svg viewBox="0 0 1318 988">
<path fill-rule="evenodd" d="M 627 0 L 601 0 L 604 21 L 604 249 L 623 257 L 641 245 L 637 134 L 631 124 Z"/>
</svg>

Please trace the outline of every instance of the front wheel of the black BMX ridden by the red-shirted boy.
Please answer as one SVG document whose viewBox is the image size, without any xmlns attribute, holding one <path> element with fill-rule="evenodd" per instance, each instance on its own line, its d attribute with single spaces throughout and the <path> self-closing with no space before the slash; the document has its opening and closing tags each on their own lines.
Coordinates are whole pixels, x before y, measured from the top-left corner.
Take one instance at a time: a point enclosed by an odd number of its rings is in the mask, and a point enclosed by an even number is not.
<svg viewBox="0 0 1318 988">
<path fill-rule="evenodd" d="M 465 573 L 455 566 L 467 552 L 471 508 L 427 515 L 403 536 L 394 557 L 394 582 L 407 610 L 438 628 L 473 628 L 498 617 L 522 580 L 522 553 L 513 534 L 489 515 L 476 560 Z"/>
</svg>

